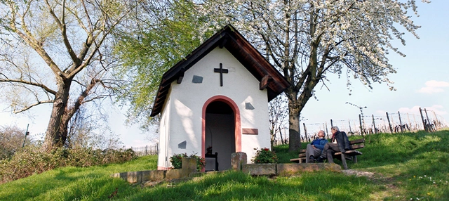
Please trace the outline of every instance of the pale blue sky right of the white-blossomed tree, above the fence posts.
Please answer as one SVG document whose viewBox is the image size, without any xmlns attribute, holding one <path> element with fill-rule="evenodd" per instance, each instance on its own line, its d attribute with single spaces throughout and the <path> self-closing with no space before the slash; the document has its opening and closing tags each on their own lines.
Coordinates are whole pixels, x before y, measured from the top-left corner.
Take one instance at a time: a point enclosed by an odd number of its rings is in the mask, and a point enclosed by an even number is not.
<svg viewBox="0 0 449 201">
<path fill-rule="evenodd" d="M 413 112 L 417 108 L 434 110 L 446 122 L 449 121 L 449 1 L 432 1 L 431 4 L 418 2 L 419 18 L 415 24 L 420 39 L 406 33 L 406 46 L 395 44 L 406 57 L 396 53 L 389 55 L 391 65 L 397 70 L 389 79 L 396 91 L 389 91 L 387 84 L 374 84 L 368 90 L 354 80 L 351 96 L 346 87 L 346 79 L 330 79 L 326 85 L 330 91 L 318 85 L 316 96 L 319 100 L 309 100 L 302 116 L 307 123 L 319 123 L 330 119 L 358 119 L 358 108 L 345 104 L 366 106 L 364 115 L 383 115 L 385 112 Z"/>
</svg>

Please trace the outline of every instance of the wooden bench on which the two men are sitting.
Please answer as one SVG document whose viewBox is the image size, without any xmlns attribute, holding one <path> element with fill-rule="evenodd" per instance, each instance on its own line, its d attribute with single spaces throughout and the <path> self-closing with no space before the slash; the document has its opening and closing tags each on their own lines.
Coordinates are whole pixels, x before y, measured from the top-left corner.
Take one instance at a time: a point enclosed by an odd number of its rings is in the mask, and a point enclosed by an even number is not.
<svg viewBox="0 0 449 201">
<path fill-rule="evenodd" d="M 358 149 L 361 149 L 365 147 L 365 139 L 361 138 L 354 141 L 349 141 L 349 145 L 351 147 L 351 150 L 347 150 L 345 153 L 337 152 L 333 155 L 334 158 L 341 160 L 344 169 L 348 169 L 346 160 L 352 160 L 354 163 L 357 162 L 357 155 L 362 155 Z M 300 150 L 300 154 L 297 158 L 290 159 L 291 162 L 305 162 L 306 161 L 306 150 Z"/>
</svg>

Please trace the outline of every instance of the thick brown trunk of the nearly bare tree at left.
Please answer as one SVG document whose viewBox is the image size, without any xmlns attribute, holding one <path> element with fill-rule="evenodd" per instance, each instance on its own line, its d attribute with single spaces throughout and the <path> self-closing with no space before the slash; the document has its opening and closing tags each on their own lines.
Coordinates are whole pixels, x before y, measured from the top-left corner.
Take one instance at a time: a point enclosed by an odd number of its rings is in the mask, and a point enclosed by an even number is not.
<svg viewBox="0 0 449 201">
<path fill-rule="evenodd" d="M 70 117 L 67 110 L 69 91 L 72 80 L 66 79 L 58 84 L 58 93 L 51 110 L 50 121 L 43 141 L 42 150 L 50 151 L 53 148 L 62 147 L 67 139 L 67 125 Z"/>
</svg>

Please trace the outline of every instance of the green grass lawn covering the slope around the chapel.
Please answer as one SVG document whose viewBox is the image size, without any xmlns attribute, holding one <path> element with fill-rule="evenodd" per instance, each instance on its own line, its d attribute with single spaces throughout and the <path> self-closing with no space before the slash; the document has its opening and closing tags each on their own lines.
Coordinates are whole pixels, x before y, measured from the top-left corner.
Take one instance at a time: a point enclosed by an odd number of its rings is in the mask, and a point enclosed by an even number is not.
<svg viewBox="0 0 449 201">
<path fill-rule="evenodd" d="M 375 134 L 365 139 L 358 163 L 348 165 L 373 172 L 370 178 L 317 171 L 268 179 L 227 171 L 143 188 L 109 176 L 156 169 L 156 156 L 147 156 L 124 164 L 65 167 L 4 183 L 0 200 L 109 200 L 116 189 L 115 200 L 449 200 L 449 131 Z M 280 162 L 297 157 L 286 145 L 274 150 Z"/>
</svg>

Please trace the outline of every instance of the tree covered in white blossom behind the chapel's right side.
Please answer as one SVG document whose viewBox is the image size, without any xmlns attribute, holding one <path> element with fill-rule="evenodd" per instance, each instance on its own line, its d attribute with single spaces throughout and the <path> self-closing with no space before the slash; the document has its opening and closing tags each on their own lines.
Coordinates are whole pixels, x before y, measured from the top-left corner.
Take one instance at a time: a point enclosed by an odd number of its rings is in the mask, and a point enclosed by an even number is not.
<svg viewBox="0 0 449 201">
<path fill-rule="evenodd" d="M 298 117 L 326 74 L 345 74 L 348 85 L 354 77 L 370 88 L 379 82 L 394 89 L 387 75 L 396 70 L 387 54 L 405 55 L 392 41 L 405 45 L 404 32 L 418 38 L 420 27 L 408 15 L 417 15 L 414 0 L 215 0 L 201 8 L 213 19 L 210 29 L 232 23 L 290 82 L 290 151 L 300 148 Z"/>
</svg>

